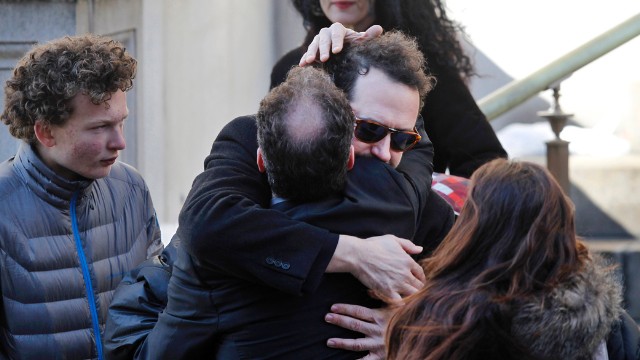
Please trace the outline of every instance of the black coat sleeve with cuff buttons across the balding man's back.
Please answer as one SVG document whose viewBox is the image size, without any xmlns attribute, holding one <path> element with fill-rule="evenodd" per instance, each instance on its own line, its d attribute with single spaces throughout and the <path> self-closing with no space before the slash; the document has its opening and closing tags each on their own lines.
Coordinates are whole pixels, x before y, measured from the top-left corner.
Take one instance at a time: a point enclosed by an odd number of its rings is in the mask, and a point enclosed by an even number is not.
<svg viewBox="0 0 640 360">
<path fill-rule="evenodd" d="M 225 126 L 180 212 L 178 235 L 203 266 L 291 294 L 313 292 L 338 235 L 268 209 L 271 190 L 256 165 L 254 117 Z M 290 264 L 283 269 L 269 259 Z"/>
</svg>

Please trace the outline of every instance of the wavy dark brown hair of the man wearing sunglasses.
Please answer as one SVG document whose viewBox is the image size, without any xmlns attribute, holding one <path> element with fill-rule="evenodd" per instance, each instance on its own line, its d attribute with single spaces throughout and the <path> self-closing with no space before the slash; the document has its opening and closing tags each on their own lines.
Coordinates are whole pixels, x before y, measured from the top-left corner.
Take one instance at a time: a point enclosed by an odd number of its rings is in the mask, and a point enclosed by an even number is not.
<svg viewBox="0 0 640 360">
<path fill-rule="evenodd" d="M 420 109 L 425 96 L 435 84 L 435 77 L 428 75 L 427 62 L 412 37 L 400 31 L 390 31 L 379 37 L 345 43 L 345 48 L 324 65 L 336 86 L 351 99 L 358 76 L 376 68 L 400 84 L 418 90 Z"/>
</svg>

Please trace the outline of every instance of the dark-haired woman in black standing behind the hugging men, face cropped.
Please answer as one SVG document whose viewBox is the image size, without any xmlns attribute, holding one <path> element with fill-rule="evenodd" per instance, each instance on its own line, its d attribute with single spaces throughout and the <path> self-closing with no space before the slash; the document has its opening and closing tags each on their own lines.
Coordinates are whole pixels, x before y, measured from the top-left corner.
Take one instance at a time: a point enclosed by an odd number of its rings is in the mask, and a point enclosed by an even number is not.
<svg viewBox="0 0 640 360">
<path fill-rule="evenodd" d="M 271 87 L 284 81 L 298 65 L 318 32 L 334 22 L 355 31 L 373 24 L 415 37 L 426 55 L 429 71 L 438 83 L 425 99 L 422 117 L 435 148 L 434 169 L 469 177 L 485 162 L 507 154 L 467 87 L 474 74 L 458 33 L 461 27 L 448 18 L 441 0 L 292 0 L 302 15 L 304 44 L 284 55 L 271 73 Z"/>
</svg>

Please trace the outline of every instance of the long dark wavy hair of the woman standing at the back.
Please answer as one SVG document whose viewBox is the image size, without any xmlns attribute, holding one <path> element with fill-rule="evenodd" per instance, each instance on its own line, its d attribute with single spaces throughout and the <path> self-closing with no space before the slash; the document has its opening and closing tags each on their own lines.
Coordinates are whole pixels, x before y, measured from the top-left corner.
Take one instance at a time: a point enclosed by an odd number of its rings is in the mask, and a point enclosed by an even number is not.
<svg viewBox="0 0 640 360">
<path fill-rule="evenodd" d="M 302 15 L 307 36 L 304 46 L 323 27 L 331 25 L 319 0 L 292 0 Z M 463 79 L 475 75 L 471 59 L 465 54 L 457 33 L 463 27 L 449 19 L 441 0 L 375 0 L 375 24 L 388 30 L 400 30 L 418 40 L 420 49 L 429 61 L 455 70 Z"/>
</svg>

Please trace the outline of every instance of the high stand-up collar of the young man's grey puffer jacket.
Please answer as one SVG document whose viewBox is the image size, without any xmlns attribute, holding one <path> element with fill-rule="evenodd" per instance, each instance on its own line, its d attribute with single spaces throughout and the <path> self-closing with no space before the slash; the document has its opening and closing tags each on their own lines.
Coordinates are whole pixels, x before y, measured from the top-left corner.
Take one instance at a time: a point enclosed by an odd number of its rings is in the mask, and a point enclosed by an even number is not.
<svg viewBox="0 0 640 360">
<path fill-rule="evenodd" d="M 93 180 L 68 180 L 58 175 L 25 142 L 20 144 L 13 167 L 31 191 L 59 208 L 67 208 L 75 192 L 79 192 L 78 202 L 82 201 L 93 184 Z"/>
</svg>

